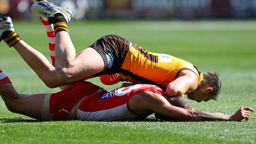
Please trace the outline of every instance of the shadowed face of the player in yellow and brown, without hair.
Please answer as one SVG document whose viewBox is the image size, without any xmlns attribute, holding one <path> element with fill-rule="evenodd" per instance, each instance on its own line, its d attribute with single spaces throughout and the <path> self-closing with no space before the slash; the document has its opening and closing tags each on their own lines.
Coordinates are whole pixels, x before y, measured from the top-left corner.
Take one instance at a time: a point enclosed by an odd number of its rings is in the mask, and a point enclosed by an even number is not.
<svg viewBox="0 0 256 144">
<path fill-rule="evenodd" d="M 204 101 L 207 102 L 208 100 L 211 100 L 211 96 L 208 95 L 209 91 L 207 91 L 204 88 L 198 88 L 193 92 L 190 92 L 187 94 L 187 98 L 190 100 L 194 100 L 198 103 Z"/>
</svg>

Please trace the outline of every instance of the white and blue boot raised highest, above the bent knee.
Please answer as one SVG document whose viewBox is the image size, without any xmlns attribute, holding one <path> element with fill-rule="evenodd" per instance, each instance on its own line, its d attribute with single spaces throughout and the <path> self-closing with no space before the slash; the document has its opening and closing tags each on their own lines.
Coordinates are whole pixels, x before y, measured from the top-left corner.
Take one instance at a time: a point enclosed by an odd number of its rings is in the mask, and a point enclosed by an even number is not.
<svg viewBox="0 0 256 144">
<path fill-rule="evenodd" d="M 69 23 L 73 17 L 73 12 L 70 9 L 55 6 L 50 2 L 37 2 L 32 5 L 31 9 L 35 14 L 41 16 L 46 21 L 48 21 L 48 18 L 54 17 L 57 13 L 60 13 L 67 23 Z"/>
</svg>

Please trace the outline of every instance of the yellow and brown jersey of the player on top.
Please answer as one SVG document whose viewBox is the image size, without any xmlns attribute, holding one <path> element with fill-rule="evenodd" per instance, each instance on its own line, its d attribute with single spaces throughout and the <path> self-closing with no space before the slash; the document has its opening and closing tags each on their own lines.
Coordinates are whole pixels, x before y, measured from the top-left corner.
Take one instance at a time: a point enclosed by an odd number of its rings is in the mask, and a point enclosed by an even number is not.
<svg viewBox="0 0 256 144">
<path fill-rule="evenodd" d="M 143 50 L 140 46 L 130 46 L 119 73 L 121 81 L 158 85 L 163 90 L 178 77 L 182 70 L 191 70 L 198 76 L 203 74 L 191 63 L 168 54 L 158 54 Z"/>
</svg>

